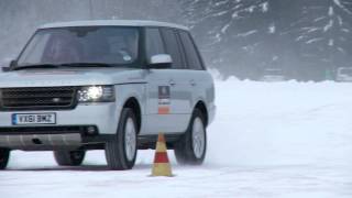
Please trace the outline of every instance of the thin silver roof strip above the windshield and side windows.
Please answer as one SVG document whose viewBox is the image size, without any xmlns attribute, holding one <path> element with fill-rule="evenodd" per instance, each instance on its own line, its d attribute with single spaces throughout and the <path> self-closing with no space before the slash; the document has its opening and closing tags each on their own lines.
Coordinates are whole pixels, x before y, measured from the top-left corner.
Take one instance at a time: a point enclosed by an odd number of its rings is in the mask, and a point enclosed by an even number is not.
<svg viewBox="0 0 352 198">
<path fill-rule="evenodd" d="M 157 22 L 157 21 L 139 21 L 139 20 L 96 20 L 96 21 L 72 21 L 72 22 L 57 22 L 44 24 L 40 29 L 54 29 L 54 28 L 67 28 L 67 26 L 164 26 L 174 28 L 188 31 L 187 26 Z"/>
</svg>

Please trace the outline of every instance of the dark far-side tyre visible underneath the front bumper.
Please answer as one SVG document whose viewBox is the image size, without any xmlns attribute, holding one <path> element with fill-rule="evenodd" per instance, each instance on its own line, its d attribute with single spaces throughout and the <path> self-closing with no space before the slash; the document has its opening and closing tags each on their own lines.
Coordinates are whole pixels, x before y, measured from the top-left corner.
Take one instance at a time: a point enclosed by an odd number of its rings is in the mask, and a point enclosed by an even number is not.
<svg viewBox="0 0 352 198">
<path fill-rule="evenodd" d="M 85 160 L 86 151 L 54 151 L 54 157 L 61 166 L 79 166 Z"/>
</svg>

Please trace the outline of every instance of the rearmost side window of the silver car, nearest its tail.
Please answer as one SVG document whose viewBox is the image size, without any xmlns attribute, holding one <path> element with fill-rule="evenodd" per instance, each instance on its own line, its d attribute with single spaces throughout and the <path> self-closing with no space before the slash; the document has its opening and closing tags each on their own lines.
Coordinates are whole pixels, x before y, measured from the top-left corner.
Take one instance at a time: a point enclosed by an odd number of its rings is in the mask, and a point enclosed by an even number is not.
<svg viewBox="0 0 352 198">
<path fill-rule="evenodd" d="M 190 37 L 190 34 L 187 32 L 180 31 L 179 36 L 180 36 L 183 44 L 184 44 L 188 68 L 196 69 L 196 70 L 202 70 L 204 67 L 202 67 L 199 54 L 196 50 L 196 46 Z"/>
</svg>

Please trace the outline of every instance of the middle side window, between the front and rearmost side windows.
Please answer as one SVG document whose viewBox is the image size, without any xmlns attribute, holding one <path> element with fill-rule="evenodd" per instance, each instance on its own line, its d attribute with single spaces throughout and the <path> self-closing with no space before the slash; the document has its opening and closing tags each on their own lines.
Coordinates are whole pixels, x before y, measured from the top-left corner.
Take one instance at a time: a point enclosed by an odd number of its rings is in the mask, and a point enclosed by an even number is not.
<svg viewBox="0 0 352 198">
<path fill-rule="evenodd" d="M 176 32 L 172 29 L 163 29 L 163 37 L 166 46 L 166 52 L 173 58 L 173 68 L 185 68 L 179 51 Z"/>
</svg>

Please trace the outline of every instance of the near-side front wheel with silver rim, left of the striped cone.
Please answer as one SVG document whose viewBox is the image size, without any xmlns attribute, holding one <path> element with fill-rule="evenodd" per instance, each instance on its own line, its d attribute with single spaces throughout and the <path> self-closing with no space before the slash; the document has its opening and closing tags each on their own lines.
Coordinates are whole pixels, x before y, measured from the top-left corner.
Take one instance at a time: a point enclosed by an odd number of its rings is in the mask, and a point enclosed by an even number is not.
<svg viewBox="0 0 352 198">
<path fill-rule="evenodd" d="M 130 108 L 121 112 L 118 132 L 106 143 L 106 157 L 110 169 L 123 170 L 134 166 L 138 151 L 136 118 Z"/>
</svg>

